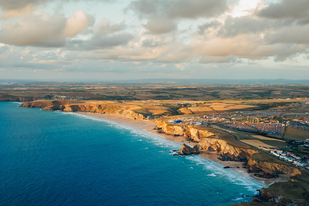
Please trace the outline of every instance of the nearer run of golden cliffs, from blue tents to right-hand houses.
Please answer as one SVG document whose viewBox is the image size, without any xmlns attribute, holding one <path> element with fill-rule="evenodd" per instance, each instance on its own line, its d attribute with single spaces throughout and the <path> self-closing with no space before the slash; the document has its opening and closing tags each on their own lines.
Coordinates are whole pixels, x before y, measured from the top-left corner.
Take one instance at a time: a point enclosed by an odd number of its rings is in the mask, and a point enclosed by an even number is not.
<svg viewBox="0 0 309 206">
<path fill-rule="evenodd" d="M 278 174 L 301 174 L 301 171 L 292 165 L 256 160 L 253 157 L 259 151 L 233 139 L 233 135 L 220 135 L 208 131 L 207 128 L 199 129 L 193 125 L 174 125 L 164 119 L 155 119 L 154 122 L 158 124 L 157 129 L 167 135 L 184 136 L 196 141 L 200 150 L 216 151 L 220 160 L 245 161 L 250 173 L 260 173 L 265 178 L 277 177 Z"/>
</svg>

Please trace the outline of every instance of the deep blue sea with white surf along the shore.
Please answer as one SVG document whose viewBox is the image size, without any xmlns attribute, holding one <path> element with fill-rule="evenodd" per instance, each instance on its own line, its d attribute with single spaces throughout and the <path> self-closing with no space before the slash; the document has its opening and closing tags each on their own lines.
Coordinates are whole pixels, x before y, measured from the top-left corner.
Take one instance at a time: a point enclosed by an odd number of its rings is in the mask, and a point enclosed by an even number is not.
<svg viewBox="0 0 309 206">
<path fill-rule="evenodd" d="M 181 144 L 120 123 L 0 102 L 0 205 L 197 205 L 264 187 Z M 250 195 L 242 197 L 243 195 Z"/>
</svg>

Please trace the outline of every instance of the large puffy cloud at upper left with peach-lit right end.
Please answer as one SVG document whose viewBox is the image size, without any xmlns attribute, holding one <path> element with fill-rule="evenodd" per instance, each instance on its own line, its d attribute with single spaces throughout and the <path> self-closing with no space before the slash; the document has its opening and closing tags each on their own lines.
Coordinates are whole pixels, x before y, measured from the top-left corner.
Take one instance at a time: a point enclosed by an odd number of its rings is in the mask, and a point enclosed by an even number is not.
<svg viewBox="0 0 309 206">
<path fill-rule="evenodd" d="M 82 10 L 74 11 L 72 17 L 63 14 L 49 15 L 42 10 L 25 17 L 4 21 L 0 30 L 0 42 L 11 45 L 61 47 L 67 37 L 74 37 L 93 26 L 94 17 Z"/>
</svg>

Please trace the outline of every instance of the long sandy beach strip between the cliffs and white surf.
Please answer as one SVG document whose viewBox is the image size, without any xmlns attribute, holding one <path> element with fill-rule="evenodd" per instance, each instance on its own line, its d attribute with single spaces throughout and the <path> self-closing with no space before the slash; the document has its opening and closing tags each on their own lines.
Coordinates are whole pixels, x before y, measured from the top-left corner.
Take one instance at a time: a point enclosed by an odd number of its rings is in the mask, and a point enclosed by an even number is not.
<svg viewBox="0 0 309 206">
<path fill-rule="evenodd" d="M 166 135 L 164 133 L 159 133 L 157 130 L 155 130 L 155 126 L 157 125 L 154 122 L 149 122 L 146 120 L 133 120 L 133 119 L 127 119 L 121 116 L 116 116 L 116 115 L 112 115 L 112 114 L 101 114 L 101 113 L 92 113 L 92 112 L 77 112 L 79 114 L 84 114 L 84 115 L 89 115 L 95 118 L 102 118 L 102 119 L 107 119 L 107 120 L 111 120 L 114 122 L 118 122 L 118 123 L 122 123 L 131 127 L 135 127 L 138 129 L 141 129 L 143 131 L 146 132 L 150 132 L 152 134 L 155 135 L 159 135 L 163 138 L 175 141 L 180 143 L 180 147 L 181 144 L 187 144 L 190 147 L 193 147 L 194 145 L 196 145 L 197 143 L 195 142 L 189 142 L 188 140 L 184 139 L 184 137 L 182 136 L 171 136 L 171 135 Z M 224 166 L 230 166 L 231 170 L 234 170 L 235 172 L 248 176 L 249 178 L 254 178 L 255 180 L 261 182 L 262 184 L 265 185 L 265 187 L 268 187 L 270 184 L 272 184 L 273 182 L 287 182 L 290 175 L 279 175 L 279 178 L 276 179 L 266 179 L 266 178 L 259 178 L 256 176 L 253 176 L 253 174 L 250 174 L 247 172 L 247 170 L 245 168 L 243 168 L 243 163 L 244 162 L 237 162 L 237 161 L 221 161 L 218 159 L 218 155 L 216 154 L 216 152 L 209 152 L 209 151 L 202 151 L 203 153 L 199 154 L 201 157 L 205 157 L 210 159 L 211 161 L 217 162 L 221 165 Z M 239 167 L 239 168 L 236 168 Z M 227 169 L 228 170 L 228 169 Z"/>
</svg>

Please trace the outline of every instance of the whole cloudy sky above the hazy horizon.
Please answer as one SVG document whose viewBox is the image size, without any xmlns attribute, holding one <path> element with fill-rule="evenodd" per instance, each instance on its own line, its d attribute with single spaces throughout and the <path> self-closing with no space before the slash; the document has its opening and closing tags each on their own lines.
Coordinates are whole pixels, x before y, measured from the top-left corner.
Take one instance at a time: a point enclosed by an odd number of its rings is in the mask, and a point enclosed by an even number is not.
<svg viewBox="0 0 309 206">
<path fill-rule="evenodd" d="M 308 0 L 0 0 L 0 79 L 309 79 Z"/>
</svg>

